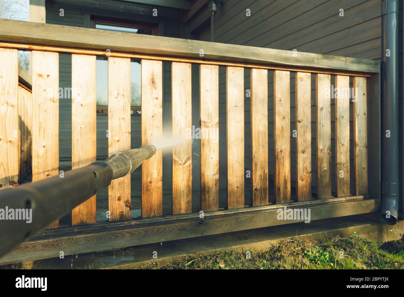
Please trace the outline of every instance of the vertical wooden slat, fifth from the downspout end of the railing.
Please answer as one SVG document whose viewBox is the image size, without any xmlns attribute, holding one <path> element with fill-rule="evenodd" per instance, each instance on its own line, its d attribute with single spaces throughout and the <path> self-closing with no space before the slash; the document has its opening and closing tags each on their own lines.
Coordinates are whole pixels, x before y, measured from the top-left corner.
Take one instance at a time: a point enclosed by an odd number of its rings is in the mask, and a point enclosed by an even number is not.
<svg viewBox="0 0 404 297">
<path fill-rule="evenodd" d="M 290 72 L 274 71 L 276 203 L 290 201 Z"/>
</svg>

